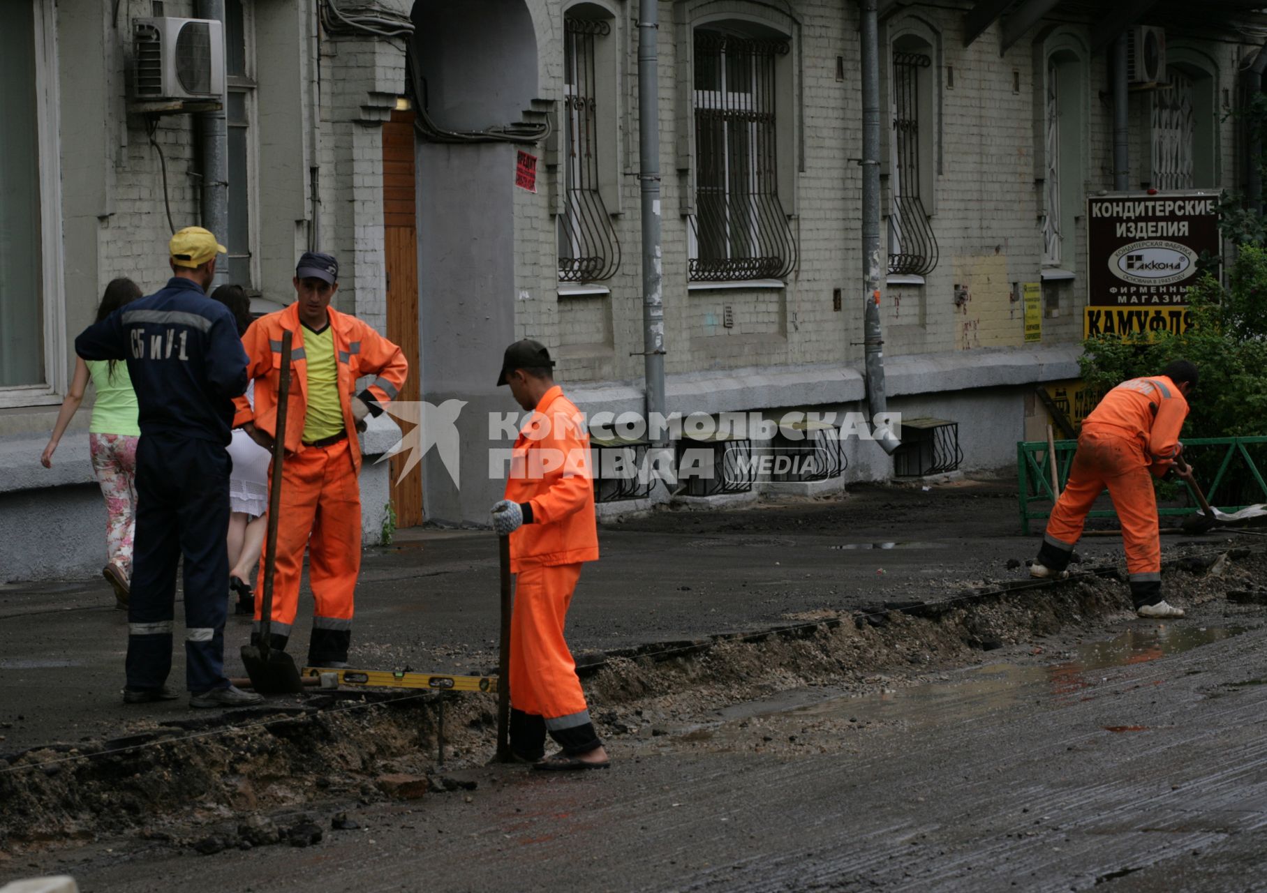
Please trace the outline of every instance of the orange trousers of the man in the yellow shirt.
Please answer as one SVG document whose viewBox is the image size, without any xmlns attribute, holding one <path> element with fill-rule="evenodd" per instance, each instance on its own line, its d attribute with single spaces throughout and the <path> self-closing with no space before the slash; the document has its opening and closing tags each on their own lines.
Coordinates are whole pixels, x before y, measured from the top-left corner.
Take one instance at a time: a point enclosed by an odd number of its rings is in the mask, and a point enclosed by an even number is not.
<svg viewBox="0 0 1267 893">
<path fill-rule="evenodd" d="M 269 481 L 271 489 L 271 472 Z M 352 594 L 361 570 L 361 490 L 347 440 L 324 447 L 305 446 L 289 453 L 281 465 L 271 628 L 281 647 L 299 608 L 305 547 L 314 602 L 308 662 L 346 662 L 352 638 Z M 265 559 L 266 554 L 260 560 L 256 585 L 256 631 L 262 618 Z"/>
</svg>

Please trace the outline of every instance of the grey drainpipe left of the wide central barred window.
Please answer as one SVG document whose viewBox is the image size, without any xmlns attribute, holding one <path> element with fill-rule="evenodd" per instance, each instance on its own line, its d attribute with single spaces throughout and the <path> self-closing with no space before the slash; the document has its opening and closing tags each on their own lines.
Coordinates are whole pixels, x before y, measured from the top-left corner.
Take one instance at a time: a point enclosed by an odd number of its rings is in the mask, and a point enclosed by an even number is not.
<svg viewBox="0 0 1267 893">
<path fill-rule="evenodd" d="M 664 418 L 664 258 L 660 252 L 659 0 L 641 0 L 637 23 L 639 184 L 642 193 L 642 356 L 647 421 Z M 665 446 L 665 431 L 649 431 Z"/>
</svg>

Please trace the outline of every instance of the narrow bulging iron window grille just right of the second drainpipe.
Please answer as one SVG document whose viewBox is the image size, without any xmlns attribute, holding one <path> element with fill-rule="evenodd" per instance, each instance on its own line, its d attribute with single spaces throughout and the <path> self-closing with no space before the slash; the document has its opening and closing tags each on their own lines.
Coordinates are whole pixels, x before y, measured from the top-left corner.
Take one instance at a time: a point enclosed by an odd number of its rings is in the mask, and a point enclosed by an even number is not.
<svg viewBox="0 0 1267 893">
<path fill-rule="evenodd" d="M 893 53 L 893 149 L 888 214 L 888 271 L 925 276 L 938 265 L 938 239 L 920 199 L 920 71 L 924 53 Z"/>
</svg>

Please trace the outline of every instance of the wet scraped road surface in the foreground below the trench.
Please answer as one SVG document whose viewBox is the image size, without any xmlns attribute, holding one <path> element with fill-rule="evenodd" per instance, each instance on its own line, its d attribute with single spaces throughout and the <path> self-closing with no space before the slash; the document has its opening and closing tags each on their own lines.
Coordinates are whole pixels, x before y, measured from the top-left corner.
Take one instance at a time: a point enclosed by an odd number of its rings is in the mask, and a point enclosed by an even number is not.
<svg viewBox="0 0 1267 893">
<path fill-rule="evenodd" d="M 475 770 L 314 849 L 42 868 L 85 890 L 1267 888 L 1267 628 L 1223 612 L 729 708 L 617 744 L 611 771 Z"/>
</svg>

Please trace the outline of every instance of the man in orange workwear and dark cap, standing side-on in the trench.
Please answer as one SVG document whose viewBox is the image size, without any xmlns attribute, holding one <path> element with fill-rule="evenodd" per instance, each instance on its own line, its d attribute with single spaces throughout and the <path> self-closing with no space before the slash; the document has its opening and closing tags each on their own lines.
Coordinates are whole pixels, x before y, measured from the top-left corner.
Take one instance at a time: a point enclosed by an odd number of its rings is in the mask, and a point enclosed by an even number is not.
<svg viewBox="0 0 1267 893">
<path fill-rule="evenodd" d="M 506 348 L 498 385 L 528 413 L 514 441 L 506 499 L 493 528 L 511 537 L 511 750 L 535 769 L 606 769 L 576 662 L 563 638 L 584 561 L 598 560 L 589 433 L 580 410 L 554 383 L 538 342 Z M 546 732 L 561 746 L 545 756 Z"/>
</svg>

